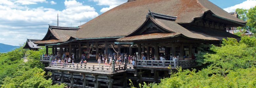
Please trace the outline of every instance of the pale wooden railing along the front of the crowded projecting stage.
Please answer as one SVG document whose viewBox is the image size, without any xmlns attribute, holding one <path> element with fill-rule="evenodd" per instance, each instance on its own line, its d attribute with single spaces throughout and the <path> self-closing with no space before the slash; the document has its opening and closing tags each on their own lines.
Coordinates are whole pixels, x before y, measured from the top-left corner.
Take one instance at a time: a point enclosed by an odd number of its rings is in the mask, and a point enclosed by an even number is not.
<svg viewBox="0 0 256 88">
<path fill-rule="evenodd" d="M 115 73 L 118 71 L 125 70 L 125 64 L 112 66 L 105 65 L 90 65 L 90 64 L 72 64 L 72 63 L 58 63 L 51 62 L 50 67 L 57 68 L 68 68 L 68 69 L 80 69 L 80 70 L 90 70 L 90 71 L 102 71 Z"/>
</svg>

